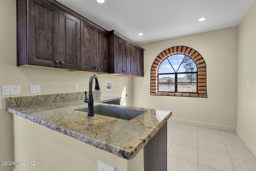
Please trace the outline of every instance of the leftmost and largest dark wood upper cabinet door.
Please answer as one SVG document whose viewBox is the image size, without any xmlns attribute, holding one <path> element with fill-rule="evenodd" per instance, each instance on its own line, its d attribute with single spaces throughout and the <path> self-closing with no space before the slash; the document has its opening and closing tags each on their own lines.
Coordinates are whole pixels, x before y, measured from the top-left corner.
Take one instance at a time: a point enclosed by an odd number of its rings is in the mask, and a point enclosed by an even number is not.
<svg viewBox="0 0 256 171">
<path fill-rule="evenodd" d="M 58 68 L 58 8 L 46 1 L 29 0 L 27 36 L 27 63 Z"/>
</svg>

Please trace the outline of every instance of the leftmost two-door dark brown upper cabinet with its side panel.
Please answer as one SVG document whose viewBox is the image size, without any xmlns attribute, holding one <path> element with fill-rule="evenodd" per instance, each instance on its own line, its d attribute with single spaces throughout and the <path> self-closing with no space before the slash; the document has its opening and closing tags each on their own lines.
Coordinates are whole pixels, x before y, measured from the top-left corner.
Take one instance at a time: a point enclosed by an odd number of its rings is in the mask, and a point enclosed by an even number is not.
<svg viewBox="0 0 256 171">
<path fill-rule="evenodd" d="M 80 29 L 78 18 L 48 1 L 17 0 L 17 66 L 80 70 Z"/>
</svg>

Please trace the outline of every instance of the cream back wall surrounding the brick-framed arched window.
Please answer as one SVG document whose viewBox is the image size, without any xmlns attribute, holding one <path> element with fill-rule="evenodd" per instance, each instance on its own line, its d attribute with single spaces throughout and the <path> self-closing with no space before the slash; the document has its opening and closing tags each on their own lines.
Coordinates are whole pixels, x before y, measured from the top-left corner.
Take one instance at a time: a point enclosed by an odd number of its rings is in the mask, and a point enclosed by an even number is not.
<svg viewBox="0 0 256 171">
<path fill-rule="evenodd" d="M 236 131 L 238 28 L 226 28 L 142 44 L 144 77 L 133 79 L 133 105 L 172 110 L 170 120 Z M 188 46 L 198 51 L 207 65 L 208 98 L 150 95 L 150 68 L 163 50 Z"/>
</svg>

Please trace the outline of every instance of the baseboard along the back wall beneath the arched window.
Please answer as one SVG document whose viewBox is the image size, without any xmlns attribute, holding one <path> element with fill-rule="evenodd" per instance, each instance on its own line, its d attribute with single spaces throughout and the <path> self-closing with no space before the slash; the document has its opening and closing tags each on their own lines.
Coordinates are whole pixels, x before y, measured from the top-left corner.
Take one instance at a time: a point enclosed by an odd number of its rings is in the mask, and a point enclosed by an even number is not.
<svg viewBox="0 0 256 171">
<path fill-rule="evenodd" d="M 213 123 L 190 121 L 190 120 L 176 119 L 176 118 L 170 118 L 170 119 L 168 119 L 168 121 L 175 122 L 175 123 L 183 123 L 183 124 L 187 124 L 187 125 L 194 125 L 194 126 L 199 126 L 199 127 L 206 127 L 206 128 L 211 128 L 211 129 L 218 129 L 221 131 L 236 132 L 236 127 L 230 127 L 230 126 L 226 126 L 226 125 L 218 125 L 218 124 L 213 124 Z"/>
</svg>

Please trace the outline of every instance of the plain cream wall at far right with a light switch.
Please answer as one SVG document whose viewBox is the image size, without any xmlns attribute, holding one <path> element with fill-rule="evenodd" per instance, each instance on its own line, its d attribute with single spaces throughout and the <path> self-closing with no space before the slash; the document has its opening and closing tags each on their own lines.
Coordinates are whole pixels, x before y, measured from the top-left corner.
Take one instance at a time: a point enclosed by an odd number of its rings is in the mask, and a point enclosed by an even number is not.
<svg viewBox="0 0 256 171">
<path fill-rule="evenodd" d="M 238 27 L 237 133 L 256 156 L 256 3 Z M 247 84 L 250 89 L 247 90 Z"/>
</svg>

